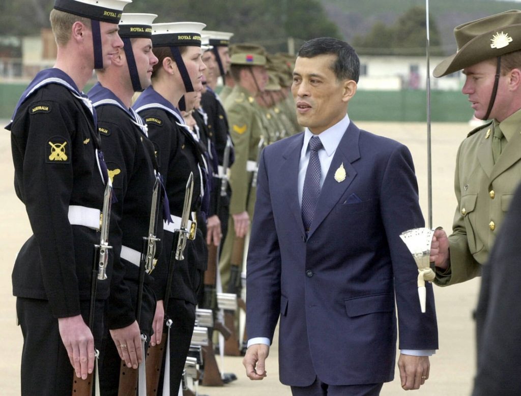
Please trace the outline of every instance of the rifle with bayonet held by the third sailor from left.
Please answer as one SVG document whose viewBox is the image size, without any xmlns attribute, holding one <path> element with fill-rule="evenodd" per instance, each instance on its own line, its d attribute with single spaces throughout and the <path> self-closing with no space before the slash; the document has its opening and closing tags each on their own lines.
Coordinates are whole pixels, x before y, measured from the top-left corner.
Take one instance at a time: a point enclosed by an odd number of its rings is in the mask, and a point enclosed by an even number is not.
<svg viewBox="0 0 521 396">
<path fill-rule="evenodd" d="M 168 276 L 166 283 L 165 297 L 163 300 L 163 306 L 165 309 L 165 325 L 163 326 L 163 340 L 164 342 L 156 344 L 154 347 L 148 348 L 146 354 L 146 394 L 148 396 L 155 396 L 157 394 L 157 388 L 159 385 L 159 375 L 161 373 L 161 366 L 163 363 L 163 355 L 165 349 L 168 346 L 170 326 L 172 321 L 167 317 L 168 300 L 170 299 L 170 289 L 172 287 L 172 277 L 174 270 L 174 261 L 184 260 L 183 252 L 187 245 L 187 239 L 191 238 L 191 235 L 195 235 L 195 231 L 188 229 L 188 217 L 190 215 L 190 208 L 192 206 L 192 193 L 194 189 L 194 175 L 190 172 L 188 176 L 187 187 L 184 191 L 184 202 L 183 212 L 181 215 L 181 226 L 179 230 L 176 230 L 176 234 L 173 239 L 172 250 L 170 253 L 170 261 L 168 263 Z M 168 328 L 168 330 L 167 330 Z M 168 356 L 167 356 L 168 359 Z M 168 363 L 168 362 L 167 362 Z M 166 369 L 165 369 L 165 382 L 168 380 Z M 168 387 L 170 384 L 168 384 Z"/>
</svg>

